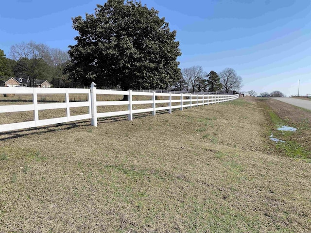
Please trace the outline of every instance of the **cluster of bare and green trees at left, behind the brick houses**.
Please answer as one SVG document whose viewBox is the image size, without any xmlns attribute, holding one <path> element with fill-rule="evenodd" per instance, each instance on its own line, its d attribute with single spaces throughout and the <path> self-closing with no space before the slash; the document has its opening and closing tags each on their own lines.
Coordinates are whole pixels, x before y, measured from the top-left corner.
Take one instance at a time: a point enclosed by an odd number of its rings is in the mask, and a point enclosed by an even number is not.
<svg viewBox="0 0 311 233">
<path fill-rule="evenodd" d="M 67 51 L 30 41 L 13 45 L 10 55 L 13 59 L 7 58 L 3 50 L 0 50 L 0 80 L 27 78 L 32 87 L 35 79 L 45 79 L 54 87 L 70 86 L 69 77 L 64 73 L 69 62 Z"/>
</svg>

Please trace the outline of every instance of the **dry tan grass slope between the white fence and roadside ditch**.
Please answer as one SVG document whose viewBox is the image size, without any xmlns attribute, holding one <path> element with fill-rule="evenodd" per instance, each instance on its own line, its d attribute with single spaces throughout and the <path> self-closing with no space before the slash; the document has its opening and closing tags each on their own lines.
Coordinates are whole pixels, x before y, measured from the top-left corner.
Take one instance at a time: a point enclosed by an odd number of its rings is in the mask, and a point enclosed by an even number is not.
<svg viewBox="0 0 311 233">
<path fill-rule="evenodd" d="M 310 153 L 269 140 L 309 119 L 267 101 L 2 133 L 0 232 L 311 232 Z"/>
</svg>

